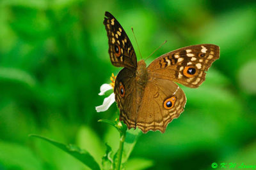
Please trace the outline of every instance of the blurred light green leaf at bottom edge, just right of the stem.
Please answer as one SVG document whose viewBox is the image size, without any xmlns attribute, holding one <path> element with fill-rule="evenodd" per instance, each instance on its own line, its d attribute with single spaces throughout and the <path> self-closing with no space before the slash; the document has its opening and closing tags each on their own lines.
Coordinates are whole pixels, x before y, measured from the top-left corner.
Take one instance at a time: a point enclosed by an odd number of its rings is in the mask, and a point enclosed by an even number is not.
<svg viewBox="0 0 256 170">
<path fill-rule="evenodd" d="M 140 169 L 147 169 L 152 167 L 154 162 L 152 160 L 143 159 L 143 158 L 133 158 L 129 159 L 125 164 L 125 170 L 140 170 Z"/>
</svg>

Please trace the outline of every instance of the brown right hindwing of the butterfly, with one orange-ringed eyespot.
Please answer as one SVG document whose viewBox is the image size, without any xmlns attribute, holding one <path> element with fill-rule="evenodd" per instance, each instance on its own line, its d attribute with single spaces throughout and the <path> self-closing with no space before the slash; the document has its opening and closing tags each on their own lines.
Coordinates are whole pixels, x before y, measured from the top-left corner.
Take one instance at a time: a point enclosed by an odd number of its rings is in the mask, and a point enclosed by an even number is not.
<svg viewBox="0 0 256 170">
<path fill-rule="evenodd" d="M 176 83 L 152 78 L 145 87 L 136 127 L 144 133 L 157 130 L 164 132 L 173 118 L 178 118 L 184 111 L 185 104 L 186 96 Z"/>
</svg>

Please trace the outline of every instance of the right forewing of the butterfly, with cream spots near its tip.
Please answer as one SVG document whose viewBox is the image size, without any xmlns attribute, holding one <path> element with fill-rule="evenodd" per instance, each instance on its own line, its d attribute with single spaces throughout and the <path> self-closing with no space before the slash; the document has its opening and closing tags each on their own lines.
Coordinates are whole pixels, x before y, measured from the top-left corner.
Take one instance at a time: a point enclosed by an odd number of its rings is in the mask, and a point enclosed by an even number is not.
<svg viewBox="0 0 256 170">
<path fill-rule="evenodd" d="M 205 71 L 219 57 L 219 46 L 192 45 L 161 55 L 147 69 L 158 78 L 196 88 L 204 82 Z"/>
</svg>

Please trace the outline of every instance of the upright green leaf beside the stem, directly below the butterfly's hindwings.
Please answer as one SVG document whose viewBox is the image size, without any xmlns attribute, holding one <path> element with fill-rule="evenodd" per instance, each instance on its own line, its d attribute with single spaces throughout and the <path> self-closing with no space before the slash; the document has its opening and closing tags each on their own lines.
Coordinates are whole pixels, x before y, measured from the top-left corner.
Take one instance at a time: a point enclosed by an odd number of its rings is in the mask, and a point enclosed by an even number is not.
<svg viewBox="0 0 256 170">
<path fill-rule="evenodd" d="M 138 141 L 139 136 L 141 135 L 140 129 L 130 129 L 126 132 L 126 137 L 124 141 L 124 151 L 122 155 L 122 163 L 126 162 L 131 155 L 131 152 Z"/>
</svg>

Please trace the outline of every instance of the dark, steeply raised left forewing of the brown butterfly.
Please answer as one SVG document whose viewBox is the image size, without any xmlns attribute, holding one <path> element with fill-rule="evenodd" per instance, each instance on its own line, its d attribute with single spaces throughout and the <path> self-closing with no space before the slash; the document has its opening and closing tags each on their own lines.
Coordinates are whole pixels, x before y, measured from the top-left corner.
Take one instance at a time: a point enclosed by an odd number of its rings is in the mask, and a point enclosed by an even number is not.
<svg viewBox="0 0 256 170">
<path fill-rule="evenodd" d="M 108 35 L 108 52 L 112 64 L 117 67 L 127 67 L 135 70 L 137 58 L 130 39 L 111 13 L 106 11 L 105 16 L 103 23 Z"/>
</svg>

